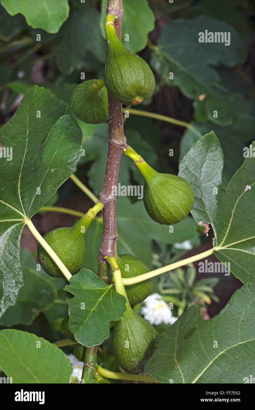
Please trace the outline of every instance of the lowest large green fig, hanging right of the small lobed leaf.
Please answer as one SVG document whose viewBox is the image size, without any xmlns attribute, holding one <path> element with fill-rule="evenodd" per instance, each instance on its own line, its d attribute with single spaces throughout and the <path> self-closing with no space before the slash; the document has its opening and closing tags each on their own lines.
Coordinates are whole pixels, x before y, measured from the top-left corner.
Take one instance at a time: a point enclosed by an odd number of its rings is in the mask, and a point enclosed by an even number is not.
<svg viewBox="0 0 255 410">
<path fill-rule="evenodd" d="M 138 374 L 153 355 L 159 335 L 154 327 L 129 307 L 114 326 L 112 348 L 119 366 Z"/>
</svg>

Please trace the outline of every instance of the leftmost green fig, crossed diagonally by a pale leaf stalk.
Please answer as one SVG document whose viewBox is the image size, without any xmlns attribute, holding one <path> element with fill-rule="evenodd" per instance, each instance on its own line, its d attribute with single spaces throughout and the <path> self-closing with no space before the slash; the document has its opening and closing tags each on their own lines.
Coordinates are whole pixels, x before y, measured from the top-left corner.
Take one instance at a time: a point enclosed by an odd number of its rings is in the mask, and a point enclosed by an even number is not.
<svg viewBox="0 0 255 410">
<path fill-rule="evenodd" d="M 43 239 L 50 245 L 68 271 L 76 273 L 83 262 L 85 254 L 84 233 L 81 232 L 81 222 L 71 228 L 57 228 L 46 233 Z M 43 270 L 52 278 L 64 278 L 63 273 L 51 259 L 46 250 L 38 244 L 37 257 Z"/>
</svg>

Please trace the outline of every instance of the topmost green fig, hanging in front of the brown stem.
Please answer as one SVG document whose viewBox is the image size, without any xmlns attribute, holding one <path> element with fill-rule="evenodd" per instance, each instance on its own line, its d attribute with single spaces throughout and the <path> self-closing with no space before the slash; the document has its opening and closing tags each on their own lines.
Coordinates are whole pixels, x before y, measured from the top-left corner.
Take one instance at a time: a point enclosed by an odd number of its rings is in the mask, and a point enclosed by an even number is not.
<svg viewBox="0 0 255 410">
<path fill-rule="evenodd" d="M 153 72 L 141 57 L 123 46 L 113 22 L 106 23 L 105 33 L 108 45 L 104 75 L 107 91 L 122 104 L 140 104 L 155 89 Z"/>
</svg>

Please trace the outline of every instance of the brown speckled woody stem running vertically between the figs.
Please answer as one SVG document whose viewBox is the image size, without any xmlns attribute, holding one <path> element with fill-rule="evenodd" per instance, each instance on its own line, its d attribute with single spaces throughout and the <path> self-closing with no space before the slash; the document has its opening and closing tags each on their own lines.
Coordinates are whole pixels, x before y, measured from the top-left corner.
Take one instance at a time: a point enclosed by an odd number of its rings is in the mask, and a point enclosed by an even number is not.
<svg viewBox="0 0 255 410">
<path fill-rule="evenodd" d="M 121 39 L 122 0 L 108 0 L 106 14 L 117 16 L 114 22 L 116 34 Z M 118 238 L 115 211 L 115 190 L 118 182 L 118 170 L 123 149 L 127 147 L 123 131 L 122 104 L 108 94 L 109 112 L 109 148 L 105 171 L 105 181 L 99 200 L 104 205 L 102 245 L 98 256 L 101 264 L 106 264 L 105 256 L 115 255 L 115 244 Z"/>
</svg>

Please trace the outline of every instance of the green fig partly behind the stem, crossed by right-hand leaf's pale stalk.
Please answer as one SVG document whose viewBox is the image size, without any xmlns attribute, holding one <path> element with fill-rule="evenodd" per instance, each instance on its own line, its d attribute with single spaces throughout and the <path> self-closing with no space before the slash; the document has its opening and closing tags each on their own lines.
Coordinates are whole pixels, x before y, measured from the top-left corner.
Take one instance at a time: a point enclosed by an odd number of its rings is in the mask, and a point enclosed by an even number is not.
<svg viewBox="0 0 255 410">
<path fill-rule="evenodd" d="M 142 273 L 149 272 L 150 269 L 137 257 L 133 255 L 117 255 L 115 254 L 116 262 L 121 270 L 122 278 L 133 278 Z M 146 299 L 152 291 L 152 278 L 143 280 L 143 282 L 134 283 L 134 285 L 125 286 L 125 291 L 128 296 L 128 301 L 131 306 L 137 305 Z"/>
</svg>

